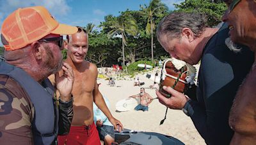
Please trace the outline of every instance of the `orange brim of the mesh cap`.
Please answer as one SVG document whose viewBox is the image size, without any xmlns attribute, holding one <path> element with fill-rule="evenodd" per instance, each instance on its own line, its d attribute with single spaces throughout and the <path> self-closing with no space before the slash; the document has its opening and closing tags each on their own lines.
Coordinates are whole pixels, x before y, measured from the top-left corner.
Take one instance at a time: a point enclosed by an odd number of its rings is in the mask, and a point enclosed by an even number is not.
<svg viewBox="0 0 256 145">
<path fill-rule="evenodd" d="M 52 34 L 70 35 L 75 34 L 78 31 L 77 27 L 65 24 L 59 24 L 56 29 L 52 30 Z"/>
</svg>

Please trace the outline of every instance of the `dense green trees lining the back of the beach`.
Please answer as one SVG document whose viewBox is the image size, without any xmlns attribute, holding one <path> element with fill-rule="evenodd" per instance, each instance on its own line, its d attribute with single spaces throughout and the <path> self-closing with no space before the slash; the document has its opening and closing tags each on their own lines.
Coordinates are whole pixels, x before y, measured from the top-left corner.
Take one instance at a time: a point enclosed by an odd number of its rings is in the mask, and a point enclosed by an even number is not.
<svg viewBox="0 0 256 145">
<path fill-rule="evenodd" d="M 226 6 L 221 0 L 184 0 L 183 3 L 175 4 L 175 6 L 177 8 L 175 11 L 204 13 L 208 16 L 209 26 L 218 24 L 221 20 L 221 15 L 226 10 Z M 113 64 L 118 64 L 118 61 L 123 58 L 130 64 L 137 63 L 134 64 L 135 66 L 129 66 L 131 68 L 127 67 L 128 72 L 132 74 L 138 71 L 136 65 L 144 64 L 144 60 L 152 59 L 152 53 L 154 53 L 154 59 L 157 60 L 169 57 L 169 54 L 164 51 L 156 38 L 156 27 L 168 13 L 170 11 L 161 3 L 161 0 L 151 0 L 150 3 L 140 6 L 140 10 L 120 11 L 120 15 L 116 17 L 107 15 L 104 22 L 100 22 L 99 27 L 102 30 L 93 32 L 89 36 L 90 47 L 86 59 L 97 64 L 98 67 L 111 67 Z M 153 31 L 151 31 L 151 25 L 149 25 L 151 22 Z M 132 25 L 133 28 L 128 27 L 129 25 Z M 87 26 L 88 28 L 89 26 L 93 28 L 93 24 L 88 24 Z M 133 33 L 135 31 L 127 31 L 128 28 L 136 28 L 136 34 Z M 120 37 L 108 38 L 108 36 L 120 36 L 122 32 L 125 39 Z M 123 46 L 125 46 L 125 49 Z M 65 54 L 63 52 L 64 58 Z M 147 61 L 147 64 L 149 62 Z"/>
</svg>

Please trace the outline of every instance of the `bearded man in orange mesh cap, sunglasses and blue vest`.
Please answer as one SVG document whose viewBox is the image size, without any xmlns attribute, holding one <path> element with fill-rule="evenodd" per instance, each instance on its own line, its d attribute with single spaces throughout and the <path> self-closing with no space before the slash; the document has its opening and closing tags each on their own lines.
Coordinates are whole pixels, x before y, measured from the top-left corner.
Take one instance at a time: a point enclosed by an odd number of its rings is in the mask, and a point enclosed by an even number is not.
<svg viewBox="0 0 256 145">
<path fill-rule="evenodd" d="M 62 64 L 61 34 L 77 27 L 59 24 L 42 6 L 19 8 L 1 27 L 5 62 L 0 62 L 1 144 L 56 144 L 73 117 L 72 67 Z M 58 71 L 64 74 L 59 75 Z M 56 74 L 55 74 L 56 73 Z M 56 75 L 60 99 L 47 77 Z M 59 115 L 60 114 L 60 115 Z"/>
</svg>

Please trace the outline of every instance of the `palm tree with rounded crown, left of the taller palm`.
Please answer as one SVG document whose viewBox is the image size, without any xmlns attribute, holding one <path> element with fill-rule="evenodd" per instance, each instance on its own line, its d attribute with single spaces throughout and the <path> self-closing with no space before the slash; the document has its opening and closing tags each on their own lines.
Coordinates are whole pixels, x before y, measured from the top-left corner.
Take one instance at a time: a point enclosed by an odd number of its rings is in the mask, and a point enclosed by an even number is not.
<svg viewBox="0 0 256 145">
<path fill-rule="evenodd" d="M 125 65 L 125 55 L 124 46 L 127 45 L 127 34 L 130 36 L 136 36 L 138 32 L 138 26 L 134 18 L 131 15 L 121 15 L 116 20 L 111 22 L 111 31 L 108 32 L 108 36 L 121 35 L 122 37 L 122 55 L 123 55 L 123 65 Z"/>
</svg>

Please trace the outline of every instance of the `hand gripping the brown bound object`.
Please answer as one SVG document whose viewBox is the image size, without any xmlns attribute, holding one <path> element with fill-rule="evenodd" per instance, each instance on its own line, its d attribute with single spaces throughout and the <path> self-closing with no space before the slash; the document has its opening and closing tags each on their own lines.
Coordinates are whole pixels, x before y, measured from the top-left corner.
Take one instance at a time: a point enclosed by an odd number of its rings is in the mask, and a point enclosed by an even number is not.
<svg viewBox="0 0 256 145">
<path fill-rule="evenodd" d="M 186 97 L 183 93 L 180 93 L 170 86 L 163 86 L 163 89 L 170 93 L 172 97 L 166 98 L 164 95 L 162 95 L 158 90 L 156 90 L 156 95 L 159 99 L 159 102 L 163 104 L 166 107 L 169 107 L 170 109 L 182 109 L 186 102 L 189 100 L 188 97 Z"/>
</svg>

